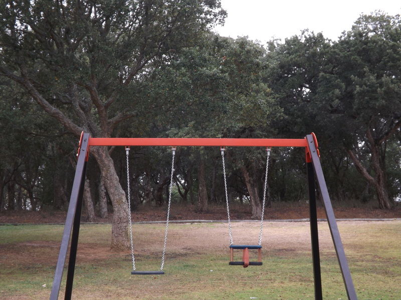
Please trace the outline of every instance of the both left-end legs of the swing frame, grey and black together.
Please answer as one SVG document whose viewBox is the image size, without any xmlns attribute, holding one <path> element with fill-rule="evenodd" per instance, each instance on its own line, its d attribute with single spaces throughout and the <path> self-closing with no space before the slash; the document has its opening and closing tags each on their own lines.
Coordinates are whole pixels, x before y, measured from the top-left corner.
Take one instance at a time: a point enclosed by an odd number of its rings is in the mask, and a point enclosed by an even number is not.
<svg viewBox="0 0 401 300">
<path fill-rule="evenodd" d="M 60 292 L 61 279 L 63 277 L 64 263 L 67 257 L 68 246 L 71 236 L 70 260 L 68 263 L 68 273 L 66 282 L 66 292 L 64 299 L 71 299 L 72 284 L 74 280 L 75 258 L 77 254 L 79 225 L 81 220 L 82 198 L 85 184 L 86 157 L 88 154 L 89 133 L 84 133 L 80 153 L 78 156 L 77 167 L 75 170 L 74 183 L 72 186 L 70 204 L 64 226 L 63 238 L 61 240 L 59 258 L 57 260 L 56 271 L 50 293 L 50 300 L 57 300 Z M 74 228 L 73 228 L 74 227 Z"/>
</svg>

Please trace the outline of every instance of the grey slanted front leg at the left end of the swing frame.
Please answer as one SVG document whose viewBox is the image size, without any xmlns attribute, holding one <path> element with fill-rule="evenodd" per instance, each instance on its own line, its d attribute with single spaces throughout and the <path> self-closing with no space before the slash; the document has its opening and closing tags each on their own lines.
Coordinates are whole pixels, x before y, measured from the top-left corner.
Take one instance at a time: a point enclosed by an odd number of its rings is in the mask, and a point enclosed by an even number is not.
<svg viewBox="0 0 401 300">
<path fill-rule="evenodd" d="M 86 168 L 85 158 L 88 153 L 88 142 L 89 142 L 89 133 L 85 133 L 83 135 L 80 155 L 78 156 L 77 168 L 75 170 L 75 177 L 71 191 L 70 204 L 68 206 L 63 238 L 61 240 L 61 245 L 60 245 L 59 258 L 57 260 L 52 291 L 50 293 L 50 300 L 57 300 L 59 297 L 61 279 L 63 277 L 64 263 L 66 261 L 68 245 L 70 243 L 70 236 L 78 205 L 79 193 L 81 190 L 82 182 L 85 179 L 85 168 Z"/>
</svg>

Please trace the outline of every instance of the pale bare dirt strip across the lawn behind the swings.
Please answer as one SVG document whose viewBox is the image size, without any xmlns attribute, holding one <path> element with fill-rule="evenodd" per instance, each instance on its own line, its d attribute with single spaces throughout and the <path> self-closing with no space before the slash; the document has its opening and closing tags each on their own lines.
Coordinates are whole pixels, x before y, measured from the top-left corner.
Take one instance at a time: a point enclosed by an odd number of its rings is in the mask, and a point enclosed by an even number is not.
<svg viewBox="0 0 401 300">
<path fill-rule="evenodd" d="M 401 223 L 401 221 L 395 221 Z M 379 222 L 384 224 L 385 222 Z M 354 240 L 354 226 L 370 226 L 369 222 L 341 222 L 344 242 Z M 90 225 L 92 226 L 92 225 Z M 259 223 L 236 222 L 232 224 L 233 240 L 237 244 L 257 244 Z M 95 231 L 92 233 L 96 234 Z M 139 260 L 161 255 L 164 237 L 163 224 L 135 224 L 133 239 L 135 254 Z M 263 252 L 268 255 L 290 256 L 296 252 L 310 251 L 310 228 L 308 222 L 265 222 L 262 241 Z M 106 241 L 107 242 L 107 241 Z M 333 252 L 331 235 L 326 222 L 319 222 L 319 243 L 322 252 Z M 167 242 L 169 259 L 203 254 L 228 254 L 229 232 L 227 223 L 171 224 Z M 9 266 L 36 267 L 53 266 L 57 261 L 60 242 L 31 240 L 15 244 L 0 245 L 0 260 L 7 261 Z M 264 254 L 264 255 L 265 255 Z M 106 259 L 126 257 L 130 251 L 112 252 L 110 245 L 88 242 L 85 236 L 80 237 L 77 261 L 99 262 Z M 68 260 L 68 258 L 67 258 Z"/>
</svg>

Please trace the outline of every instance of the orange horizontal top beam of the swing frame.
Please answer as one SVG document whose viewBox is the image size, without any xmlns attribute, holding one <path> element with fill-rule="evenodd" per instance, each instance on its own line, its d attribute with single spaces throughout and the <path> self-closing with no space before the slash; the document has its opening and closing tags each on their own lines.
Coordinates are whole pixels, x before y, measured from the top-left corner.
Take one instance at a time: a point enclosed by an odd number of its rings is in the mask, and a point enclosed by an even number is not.
<svg viewBox="0 0 401 300">
<path fill-rule="evenodd" d="M 306 147 L 305 138 L 99 138 L 90 137 L 90 146 L 270 146 Z"/>
</svg>

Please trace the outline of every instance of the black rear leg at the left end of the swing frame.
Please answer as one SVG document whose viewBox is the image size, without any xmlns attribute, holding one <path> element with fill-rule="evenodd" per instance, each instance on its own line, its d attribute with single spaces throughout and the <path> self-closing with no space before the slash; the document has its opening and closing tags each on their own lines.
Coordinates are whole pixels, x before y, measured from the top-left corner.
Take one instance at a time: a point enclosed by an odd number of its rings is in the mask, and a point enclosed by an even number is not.
<svg viewBox="0 0 401 300">
<path fill-rule="evenodd" d="M 70 259 L 68 262 L 66 293 L 64 295 L 64 300 L 71 300 L 71 295 L 72 295 L 72 285 L 74 282 L 74 272 L 75 272 L 75 261 L 77 258 L 79 227 L 81 224 L 82 202 L 83 202 L 83 197 L 84 197 L 86 163 L 87 162 L 85 161 L 84 176 L 82 177 L 81 187 L 80 187 L 79 195 L 78 195 L 77 209 L 76 209 L 75 216 L 74 216 L 74 227 L 72 229 L 72 236 L 71 236 Z"/>
</svg>

